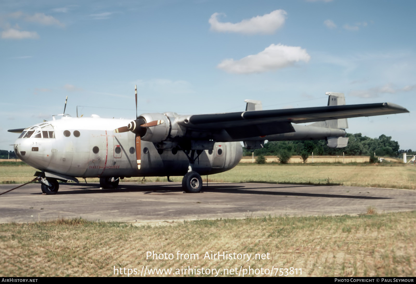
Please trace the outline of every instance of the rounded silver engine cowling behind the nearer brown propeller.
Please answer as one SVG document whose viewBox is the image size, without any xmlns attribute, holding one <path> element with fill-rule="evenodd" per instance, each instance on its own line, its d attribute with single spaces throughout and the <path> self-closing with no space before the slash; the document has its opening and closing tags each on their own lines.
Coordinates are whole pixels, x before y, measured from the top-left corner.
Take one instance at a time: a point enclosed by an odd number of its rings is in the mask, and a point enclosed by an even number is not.
<svg viewBox="0 0 416 284">
<path fill-rule="evenodd" d="M 144 123 L 154 120 L 163 120 L 163 123 L 151 127 L 142 127 L 140 135 L 142 140 L 157 143 L 166 140 L 169 136 L 171 123 L 166 115 L 162 113 L 144 113 L 139 116 L 136 121 L 140 121 L 140 124 L 144 124 L 141 123 L 143 120 L 145 120 Z"/>
</svg>

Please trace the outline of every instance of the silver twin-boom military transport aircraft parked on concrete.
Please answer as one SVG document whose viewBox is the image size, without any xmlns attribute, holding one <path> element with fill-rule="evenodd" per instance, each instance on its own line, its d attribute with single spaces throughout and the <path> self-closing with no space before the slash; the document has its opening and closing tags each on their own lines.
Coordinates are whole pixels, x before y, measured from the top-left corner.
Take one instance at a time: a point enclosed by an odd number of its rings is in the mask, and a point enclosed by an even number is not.
<svg viewBox="0 0 416 284">
<path fill-rule="evenodd" d="M 131 122 L 63 114 L 8 131 L 21 132 L 14 151 L 40 170 L 35 176 L 46 194 L 57 193 L 58 180 L 78 182 L 77 177 L 99 177 L 103 188 L 116 188 L 124 177 L 182 175 L 183 189 L 199 192 L 201 175 L 238 164 L 240 141 L 248 149 L 262 147 L 265 140 L 326 139 L 329 147 L 345 147 L 346 118 L 409 112 L 393 103 L 345 105 L 344 94 L 326 94 L 323 107 L 262 110 L 260 101 L 246 100 L 245 111 L 236 113 L 136 113 Z M 299 125 L 305 122 L 315 123 Z"/>
</svg>

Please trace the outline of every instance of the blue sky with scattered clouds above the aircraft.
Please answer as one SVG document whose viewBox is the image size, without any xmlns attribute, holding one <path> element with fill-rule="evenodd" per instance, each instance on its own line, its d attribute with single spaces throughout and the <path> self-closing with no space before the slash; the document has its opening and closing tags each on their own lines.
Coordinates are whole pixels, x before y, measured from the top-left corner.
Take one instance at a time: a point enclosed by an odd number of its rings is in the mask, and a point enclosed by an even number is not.
<svg viewBox="0 0 416 284">
<path fill-rule="evenodd" d="M 416 149 L 416 2 L 146 0 L 0 2 L 0 149 L 62 113 L 222 113 L 392 102 L 411 113 L 349 119 L 349 133 Z M 92 108 L 94 107 L 94 108 Z M 111 109 L 109 109 L 111 108 Z"/>
</svg>

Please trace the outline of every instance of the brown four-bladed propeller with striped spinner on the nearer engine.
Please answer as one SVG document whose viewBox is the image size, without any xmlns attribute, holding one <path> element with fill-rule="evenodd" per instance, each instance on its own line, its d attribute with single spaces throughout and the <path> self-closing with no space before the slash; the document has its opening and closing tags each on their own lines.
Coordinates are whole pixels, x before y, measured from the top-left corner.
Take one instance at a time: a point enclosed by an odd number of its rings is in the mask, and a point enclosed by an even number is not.
<svg viewBox="0 0 416 284">
<path fill-rule="evenodd" d="M 162 124 L 163 120 L 154 120 L 151 122 L 146 122 L 143 118 L 137 117 L 137 86 L 134 85 L 134 93 L 136 98 L 136 120 L 133 120 L 127 126 L 122 126 L 117 129 L 114 129 L 116 133 L 122 133 L 131 131 L 136 134 L 135 139 L 135 148 L 136 148 L 136 161 L 137 161 L 137 169 L 140 169 L 141 166 L 141 137 L 146 134 L 146 128 L 153 127 L 156 125 Z M 137 127 L 139 125 L 139 127 Z"/>
</svg>

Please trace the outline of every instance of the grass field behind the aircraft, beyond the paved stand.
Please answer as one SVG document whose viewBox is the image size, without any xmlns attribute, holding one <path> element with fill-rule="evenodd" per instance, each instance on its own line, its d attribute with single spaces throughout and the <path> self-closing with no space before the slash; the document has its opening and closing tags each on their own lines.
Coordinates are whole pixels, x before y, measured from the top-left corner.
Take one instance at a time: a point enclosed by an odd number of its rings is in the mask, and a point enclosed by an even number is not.
<svg viewBox="0 0 416 284">
<path fill-rule="evenodd" d="M 0 183 L 22 184 L 33 179 L 36 169 L 25 165 L 0 165 Z M 124 181 L 139 181 L 141 177 Z M 146 181 L 166 181 L 166 177 L 146 177 Z M 171 177 L 181 181 L 182 177 Z M 88 179 L 98 182 L 98 179 Z M 203 176 L 206 181 L 206 176 Z M 234 169 L 208 176 L 211 182 L 270 182 L 289 184 L 338 184 L 396 189 L 416 189 L 416 166 L 401 163 L 381 164 L 251 164 L 240 163 Z"/>
</svg>

